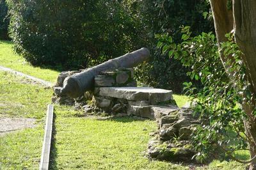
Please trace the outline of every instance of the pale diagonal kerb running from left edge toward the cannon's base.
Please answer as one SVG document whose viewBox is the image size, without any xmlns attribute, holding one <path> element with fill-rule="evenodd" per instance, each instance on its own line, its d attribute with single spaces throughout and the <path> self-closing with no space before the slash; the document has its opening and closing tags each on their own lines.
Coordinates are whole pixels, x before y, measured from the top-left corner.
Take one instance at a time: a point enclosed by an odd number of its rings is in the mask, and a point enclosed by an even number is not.
<svg viewBox="0 0 256 170">
<path fill-rule="evenodd" d="M 19 76 L 22 76 L 22 77 L 26 77 L 26 78 L 31 79 L 32 81 L 38 82 L 39 84 L 42 84 L 43 86 L 46 86 L 46 87 L 52 87 L 53 86 L 52 82 L 44 81 L 42 79 L 38 79 L 36 77 L 33 77 L 31 75 L 28 75 L 28 74 L 25 74 L 25 73 L 22 73 L 22 72 L 17 72 L 15 70 L 12 70 L 11 68 L 6 68 L 4 66 L 0 66 L 0 70 L 2 70 L 4 72 L 15 74 L 15 75 L 19 75 Z"/>
</svg>

